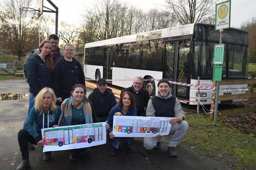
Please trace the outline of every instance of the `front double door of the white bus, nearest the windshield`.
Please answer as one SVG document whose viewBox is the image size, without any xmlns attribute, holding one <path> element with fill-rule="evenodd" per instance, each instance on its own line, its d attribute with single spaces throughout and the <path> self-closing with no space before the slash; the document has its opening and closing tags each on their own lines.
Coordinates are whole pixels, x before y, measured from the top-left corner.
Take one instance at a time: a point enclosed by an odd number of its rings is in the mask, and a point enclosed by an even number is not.
<svg viewBox="0 0 256 170">
<path fill-rule="evenodd" d="M 188 83 L 188 59 L 190 41 L 172 41 L 165 43 L 165 57 L 163 65 L 163 78 Z M 171 84 L 172 94 L 176 97 L 187 99 L 187 86 Z"/>
</svg>

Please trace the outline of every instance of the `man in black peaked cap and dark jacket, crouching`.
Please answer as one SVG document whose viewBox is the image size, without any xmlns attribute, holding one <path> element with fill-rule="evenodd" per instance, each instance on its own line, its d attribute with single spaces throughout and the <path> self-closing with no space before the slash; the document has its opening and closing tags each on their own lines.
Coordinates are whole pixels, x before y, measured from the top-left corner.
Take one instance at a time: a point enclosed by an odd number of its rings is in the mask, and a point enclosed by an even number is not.
<svg viewBox="0 0 256 170">
<path fill-rule="evenodd" d="M 110 110 L 117 104 L 115 95 L 112 90 L 107 87 L 108 84 L 106 83 L 106 80 L 99 79 L 97 88 L 95 88 L 88 96 L 89 100 L 93 103 L 96 116 L 101 122 L 108 119 Z"/>
</svg>

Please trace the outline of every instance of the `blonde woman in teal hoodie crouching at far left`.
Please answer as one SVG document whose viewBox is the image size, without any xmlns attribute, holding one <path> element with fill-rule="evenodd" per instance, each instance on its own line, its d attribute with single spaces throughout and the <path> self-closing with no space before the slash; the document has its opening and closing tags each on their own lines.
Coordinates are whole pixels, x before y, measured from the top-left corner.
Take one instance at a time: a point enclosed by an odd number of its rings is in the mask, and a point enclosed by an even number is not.
<svg viewBox="0 0 256 170">
<path fill-rule="evenodd" d="M 58 126 L 58 121 L 61 115 L 61 109 L 55 105 L 56 97 L 53 89 L 44 87 L 39 91 L 34 98 L 34 106 L 31 109 L 29 117 L 23 126 L 23 129 L 18 133 L 18 142 L 20 152 L 22 153 L 22 162 L 17 167 L 17 170 L 26 169 L 30 166 L 28 142 L 33 145 L 41 145 L 44 147 L 41 129 L 55 128 Z M 51 152 L 44 152 L 44 160 L 51 158 Z"/>
</svg>

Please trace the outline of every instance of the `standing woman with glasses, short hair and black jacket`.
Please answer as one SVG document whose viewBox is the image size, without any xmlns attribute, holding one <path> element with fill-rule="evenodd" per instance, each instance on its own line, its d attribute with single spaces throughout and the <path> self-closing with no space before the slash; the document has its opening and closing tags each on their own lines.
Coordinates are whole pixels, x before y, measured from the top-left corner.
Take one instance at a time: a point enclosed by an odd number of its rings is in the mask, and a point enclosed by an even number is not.
<svg viewBox="0 0 256 170">
<path fill-rule="evenodd" d="M 72 44 L 66 44 L 64 46 L 63 54 L 64 57 L 57 61 L 53 70 L 54 91 L 59 105 L 61 105 L 63 100 L 70 97 L 73 85 L 82 84 L 85 86 L 82 65 L 73 57 L 74 46 Z"/>
</svg>

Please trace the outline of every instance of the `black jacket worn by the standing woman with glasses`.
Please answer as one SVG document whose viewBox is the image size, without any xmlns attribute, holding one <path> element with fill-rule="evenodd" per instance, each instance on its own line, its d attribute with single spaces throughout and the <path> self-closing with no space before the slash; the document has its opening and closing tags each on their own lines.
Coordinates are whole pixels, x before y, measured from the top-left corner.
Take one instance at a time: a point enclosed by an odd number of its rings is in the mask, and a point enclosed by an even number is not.
<svg viewBox="0 0 256 170">
<path fill-rule="evenodd" d="M 85 78 L 82 65 L 79 61 L 75 60 L 75 58 L 72 59 L 72 68 L 70 68 L 64 57 L 60 58 L 54 66 L 53 85 L 57 98 L 61 97 L 61 93 L 69 94 L 72 86 L 75 84 L 82 84 L 85 86 Z"/>
</svg>

